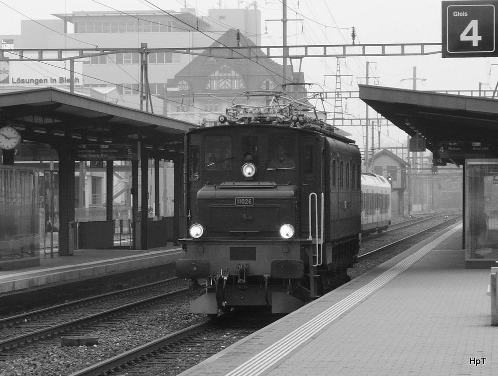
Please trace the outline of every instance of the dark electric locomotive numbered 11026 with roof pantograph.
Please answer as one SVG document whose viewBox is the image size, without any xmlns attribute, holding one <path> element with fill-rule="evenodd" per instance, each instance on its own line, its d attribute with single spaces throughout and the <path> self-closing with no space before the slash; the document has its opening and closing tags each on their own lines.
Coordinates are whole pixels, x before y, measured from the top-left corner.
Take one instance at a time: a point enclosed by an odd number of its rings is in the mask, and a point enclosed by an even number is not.
<svg viewBox="0 0 498 376">
<path fill-rule="evenodd" d="M 291 312 L 348 281 L 361 233 L 361 155 L 309 100 L 245 92 L 221 125 L 185 136 L 188 235 L 179 278 L 206 279 L 191 312 Z M 271 98 L 268 100 L 268 98 Z"/>
</svg>

